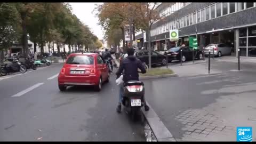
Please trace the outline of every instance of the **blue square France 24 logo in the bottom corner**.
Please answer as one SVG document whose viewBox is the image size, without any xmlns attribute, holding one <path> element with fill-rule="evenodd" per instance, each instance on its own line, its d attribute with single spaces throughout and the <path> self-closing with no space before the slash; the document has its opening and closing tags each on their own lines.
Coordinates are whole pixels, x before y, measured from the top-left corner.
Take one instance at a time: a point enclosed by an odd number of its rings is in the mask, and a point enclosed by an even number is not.
<svg viewBox="0 0 256 144">
<path fill-rule="evenodd" d="M 236 141 L 252 141 L 252 127 L 237 127 Z"/>
</svg>

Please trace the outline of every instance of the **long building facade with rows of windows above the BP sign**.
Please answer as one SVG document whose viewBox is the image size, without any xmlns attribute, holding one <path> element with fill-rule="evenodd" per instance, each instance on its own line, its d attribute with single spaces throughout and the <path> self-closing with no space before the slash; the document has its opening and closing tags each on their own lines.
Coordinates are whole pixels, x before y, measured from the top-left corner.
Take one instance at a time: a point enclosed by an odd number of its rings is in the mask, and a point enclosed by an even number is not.
<svg viewBox="0 0 256 144">
<path fill-rule="evenodd" d="M 197 34 L 201 48 L 226 43 L 233 47 L 234 55 L 239 48 L 242 56 L 256 57 L 256 3 L 174 3 L 163 7 L 159 14 L 164 20 L 155 22 L 150 31 L 155 50 L 175 46 L 169 41 L 169 30 L 178 29 L 178 45 L 188 45 L 189 36 Z M 143 34 L 135 38 L 143 39 Z"/>
</svg>

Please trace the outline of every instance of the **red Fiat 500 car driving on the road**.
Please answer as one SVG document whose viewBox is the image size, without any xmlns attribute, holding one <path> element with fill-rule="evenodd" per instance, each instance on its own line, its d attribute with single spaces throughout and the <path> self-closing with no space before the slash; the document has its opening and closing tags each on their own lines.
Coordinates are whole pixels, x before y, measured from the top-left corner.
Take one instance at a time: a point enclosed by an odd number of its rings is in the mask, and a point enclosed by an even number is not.
<svg viewBox="0 0 256 144">
<path fill-rule="evenodd" d="M 109 82 L 108 67 L 97 53 L 73 53 L 60 70 L 58 84 L 60 91 L 69 85 L 93 85 L 100 91 L 103 82 Z"/>
</svg>

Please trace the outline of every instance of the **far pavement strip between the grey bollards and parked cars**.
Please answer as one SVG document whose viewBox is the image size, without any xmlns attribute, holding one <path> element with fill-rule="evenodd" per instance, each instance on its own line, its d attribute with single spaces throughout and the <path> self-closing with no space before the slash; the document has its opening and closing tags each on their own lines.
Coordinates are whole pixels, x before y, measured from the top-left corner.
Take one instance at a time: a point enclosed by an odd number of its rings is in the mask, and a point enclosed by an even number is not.
<svg viewBox="0 0 256 144">
<path fill-rule="evenodd" d="M 197 76 L 208 75 L 208 58 L 203 60 L 188 61 L 182 63 L 172 62 L 169 63 L 170 69 L 172 69 L 179 76 Z M 256 59 L 241 58 L 240 68 L 242 71 L 255 71 L 256 72 Z M 166 68 L 165 66 L 162 68 Z M 228 71 L 238 70 L 238 59 L 236 57 L 221 57 L 211 58 L 210 74 L 226 73 Z"/>
</svg>

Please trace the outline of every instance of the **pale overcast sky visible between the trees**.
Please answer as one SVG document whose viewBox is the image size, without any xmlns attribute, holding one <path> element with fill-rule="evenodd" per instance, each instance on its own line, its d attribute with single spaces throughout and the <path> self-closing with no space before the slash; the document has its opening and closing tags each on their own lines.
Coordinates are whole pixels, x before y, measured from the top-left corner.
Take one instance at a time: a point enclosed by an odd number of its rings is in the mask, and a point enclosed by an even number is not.
<svg viewBox="0 0 256 144">
<path fill-rule="evenodd" d="M 92 13 L 94 10 L 94 4 L 103 4 L 103 3 L 69 3 L 72 6 L 73 13 L 78 19 L 83 23 L 88 25 L 91 28 L 91 31 L 99 39 L 103 38 L 103 29 L 98 25 L 98 18 L 95 17 L 95 14 Z"/>
</svg>

